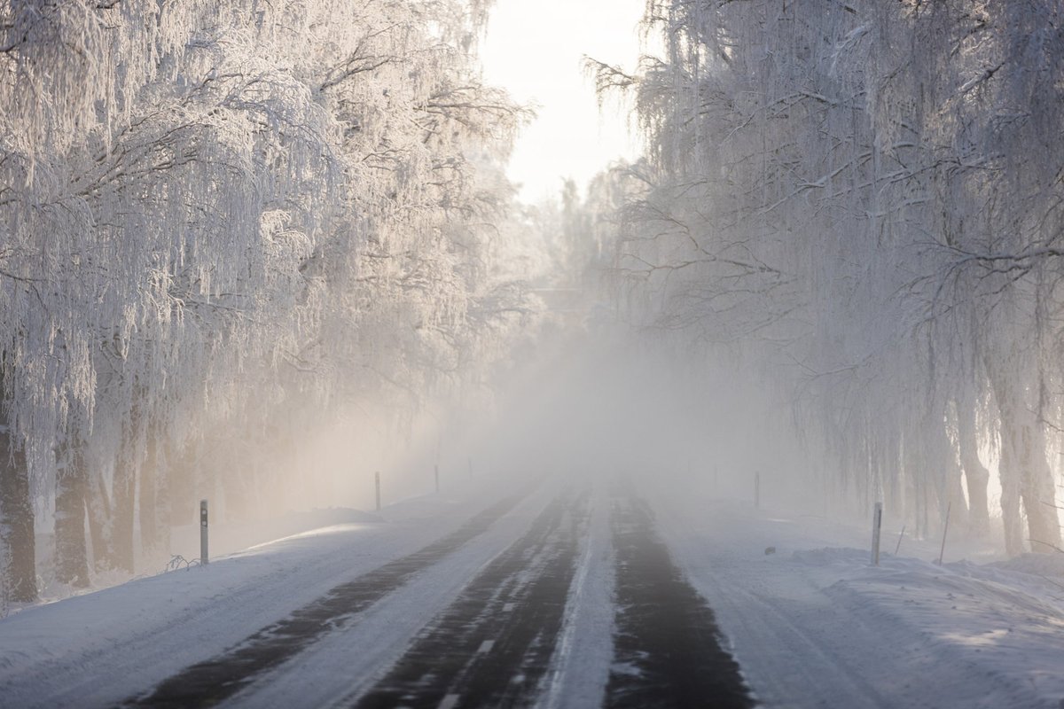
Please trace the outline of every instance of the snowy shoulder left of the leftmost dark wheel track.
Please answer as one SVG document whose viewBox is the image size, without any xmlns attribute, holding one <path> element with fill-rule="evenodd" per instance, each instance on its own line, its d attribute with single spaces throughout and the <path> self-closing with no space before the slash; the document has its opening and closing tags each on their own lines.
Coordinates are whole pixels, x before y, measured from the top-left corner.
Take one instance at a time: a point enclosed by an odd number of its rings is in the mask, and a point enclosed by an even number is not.
<svg viewBox="0 0 1064 709">
<path fill-rule="evenodd" d="M 298 535 L 0 621 L 0 697 L 10 707 L 113 706 L 360 574 L 454 531 L 506 493 L 414 500 L 393 521 Z"/>
</svg>

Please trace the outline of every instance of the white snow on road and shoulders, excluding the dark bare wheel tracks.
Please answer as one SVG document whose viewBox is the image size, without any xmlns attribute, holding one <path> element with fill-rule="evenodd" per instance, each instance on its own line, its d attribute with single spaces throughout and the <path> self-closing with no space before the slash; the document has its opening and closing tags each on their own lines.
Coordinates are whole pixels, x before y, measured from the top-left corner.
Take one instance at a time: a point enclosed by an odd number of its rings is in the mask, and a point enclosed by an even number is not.
<svg viewBox="0 0 1064 709">
<path fill-rule="evenodd" d="M 112 706 L 438 539 L 522 483 L 476 485 L 0 621 L 0 706 Z M 485 531 L 326 634 L 232 706 L 349 704 L 571 483 L 547 480 Z M 609 482 L 591 516 L 545 707 L 596 706 L 606 686 L 615 558 Z M 675 561 L 715 610 L 766 707 L 1064 706 L 1064 555 L 937 565 L 932 543 L 868 562 L 858 526 L 748 502 L 643 489 Z M 893 542 L 884 548 L 893 551 Z M 766 547 L 776 552 L 766 554 Z M 908 554 L 907 554 L 908 552 Z"/>
</svg>

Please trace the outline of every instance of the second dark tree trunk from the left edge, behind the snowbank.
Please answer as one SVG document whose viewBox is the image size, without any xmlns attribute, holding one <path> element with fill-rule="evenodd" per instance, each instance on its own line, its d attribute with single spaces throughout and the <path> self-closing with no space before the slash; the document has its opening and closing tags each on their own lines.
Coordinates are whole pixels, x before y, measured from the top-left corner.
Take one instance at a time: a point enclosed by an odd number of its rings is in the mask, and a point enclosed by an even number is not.
<svg viewBox="0 0 1064 709">
<path fill-rule="evenodd" d="M 55 578 L 62 584 L 88 586 L 85 543 L 87 473 L 80 448 L 61 453 L 55 475 Z"/>
</svg>

